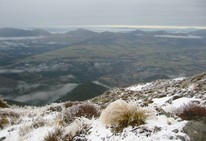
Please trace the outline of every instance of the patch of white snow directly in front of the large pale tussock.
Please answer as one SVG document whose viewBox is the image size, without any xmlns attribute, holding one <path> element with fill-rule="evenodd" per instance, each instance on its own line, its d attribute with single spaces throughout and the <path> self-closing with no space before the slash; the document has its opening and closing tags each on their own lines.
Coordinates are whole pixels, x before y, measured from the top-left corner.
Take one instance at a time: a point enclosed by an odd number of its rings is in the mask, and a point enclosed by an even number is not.
<svg viewBox="0 0 206 141">
<path fill-rule="evenodd" d="M 99 120 L 92 120 L 91 123 L 90 134 L 86 136 L 88 141 L 178 141 L 180 139 L 176 137 L 177 135 L 188 138 L 186 134 L 181 132 L 186 121 L 178 122 L 166 116 L 157 116 L 139 127 L 129 126 L 122 133 L 113 133 L 110 128 L 106 128 Z M 173 130 L 177 130 L 177 132 Z"/>
</svg>

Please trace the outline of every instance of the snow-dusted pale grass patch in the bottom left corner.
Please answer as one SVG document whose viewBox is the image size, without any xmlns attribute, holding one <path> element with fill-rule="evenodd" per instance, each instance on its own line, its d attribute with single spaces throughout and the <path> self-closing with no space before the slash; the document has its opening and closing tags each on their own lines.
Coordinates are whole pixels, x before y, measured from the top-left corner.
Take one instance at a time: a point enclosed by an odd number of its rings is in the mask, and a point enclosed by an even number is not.
<svg viewBox="0 0 206 141">
<path fill-rule="evenodd" d="M 1 109 L 1 111 L 18 113 L 20 118 L 16 124 L 0 130 L 0 139 L 4 141 L 41 141 L 47 133 L 56 126 L 57 112 L 47 112 L 44 107 L 15 107 Z"/>
</svg>

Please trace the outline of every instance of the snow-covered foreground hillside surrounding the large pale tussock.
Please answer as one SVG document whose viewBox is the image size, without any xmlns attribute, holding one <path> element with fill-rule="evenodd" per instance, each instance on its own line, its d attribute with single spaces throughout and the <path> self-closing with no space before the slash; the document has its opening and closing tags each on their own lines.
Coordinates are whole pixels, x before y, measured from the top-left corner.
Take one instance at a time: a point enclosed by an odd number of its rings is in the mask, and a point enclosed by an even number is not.
<svg viewBox="0 0 206 141">
<path fill-rule="evenodd" d="M 149 116 L 144 124 L 118 132 L 105 125 L 101 112 L 119 99 L 146 109 Z M 188 120 L 177 113 L 188 103 L 206 105 L 206 73 L 114 88 L 84 102 L 0 108 L 0 141 L 187 141 L 191 140 L 184 130 Z"/>
</svg>

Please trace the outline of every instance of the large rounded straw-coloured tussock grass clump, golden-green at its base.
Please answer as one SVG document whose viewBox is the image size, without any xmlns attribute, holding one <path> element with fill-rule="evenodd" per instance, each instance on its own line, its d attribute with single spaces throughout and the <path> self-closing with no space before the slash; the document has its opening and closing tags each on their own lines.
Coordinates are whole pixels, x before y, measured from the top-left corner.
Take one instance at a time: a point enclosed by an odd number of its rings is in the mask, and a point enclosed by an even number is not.
<svg viewBox="0 0 206 141">
<path fill-rule="evenodd" d="M 127 126 L 139 126 L 145 123 L 149 112 L 133 103 L 117 100 L 102 111 L 100 120 L 107 126 L 121 131 Z"/>
</svg>

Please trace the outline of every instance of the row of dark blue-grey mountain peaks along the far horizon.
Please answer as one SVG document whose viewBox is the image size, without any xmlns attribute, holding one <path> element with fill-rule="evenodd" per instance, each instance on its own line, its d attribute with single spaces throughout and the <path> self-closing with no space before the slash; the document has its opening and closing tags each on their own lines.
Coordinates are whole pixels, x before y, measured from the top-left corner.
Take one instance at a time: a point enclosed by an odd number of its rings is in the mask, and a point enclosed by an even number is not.
<svg viewBox="0 0 206 141">
<path fill-rule="evenodd" d="M 176 35 L 176 36 L 187 36 L 193 35 L 193 36 L 204 36 L 206 37 L 206 30 L 194 30 L 190 31 L 188 33 L 170 33 L 164 30 L 160 31 L 142 31 L 142 30 L 135 30 L 128 32 L 131 35 Z M 27 37 L 27 36 L 49 36 L 49 35 L 55 35 L 56 33 L 52 34 L 46 30 L 43 29 L 32 29 L 32 30 L 26 30 L 26 29 L 17 29 L 17 28 L 0 28 L 0 37 Z M 103 36 L 113 36 L 113 35 L 122 35 L 125 33 L 114 33 L 114 32 L 108 32 L 105 31 L 101 34 L 97 32 L 93 32 L 86 29 L 77 29 L 74 31 L 69 31 L 66 33 L 58 33 L 58 35 L 64 35 L 64 36 L 72 36 L 72 37 L 92 37 L 96 35 L 103 35 Z"/>
</svg>

